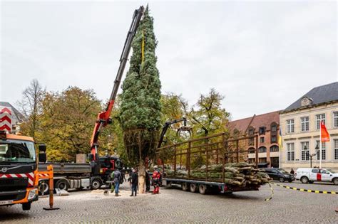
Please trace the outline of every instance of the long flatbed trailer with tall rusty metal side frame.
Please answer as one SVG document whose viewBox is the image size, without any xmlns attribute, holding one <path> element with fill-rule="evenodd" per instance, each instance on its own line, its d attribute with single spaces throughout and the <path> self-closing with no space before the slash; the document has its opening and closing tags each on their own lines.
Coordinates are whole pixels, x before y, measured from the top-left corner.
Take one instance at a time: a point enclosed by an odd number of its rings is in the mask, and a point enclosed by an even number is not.
<svg viewBox="0 0 338 224">
<path fill-rule="evenodd" d="M 227 182 L 225 170 L 229 163 L 250 162 L 257 169 L 257 135 L 227 139 L 225 133 L 193 139 L 179 144 L 163 146 L 156 150 L 158 166 L 163 167 L 162 186 L 179 185 L 183 191 L 258 191 L 261 184 L 235 185 Z M 194 166 L 203 166 L 203 177 L 193 176 Z M 212 176 L 212 166 L 218 166 L 218 177 Z M 170 173 L 168 171 L 170 168 Z M 181 169 L 185 168 L 182 172 Z M 184 173 L 184 176 L 182 176 Z M 169 175 L 170 174 L 170 175 Z M 214 178 L 213 178 L 214 177 Z M 243 182 L 244 183 L 244 182 Z"/>
</svg>

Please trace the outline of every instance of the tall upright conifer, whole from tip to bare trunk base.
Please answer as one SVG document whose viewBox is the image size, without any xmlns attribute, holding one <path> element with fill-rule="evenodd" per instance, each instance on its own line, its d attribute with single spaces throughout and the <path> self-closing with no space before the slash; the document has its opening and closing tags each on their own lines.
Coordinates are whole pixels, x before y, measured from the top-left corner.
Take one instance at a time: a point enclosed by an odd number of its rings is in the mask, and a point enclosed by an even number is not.
<svg viewBox="0 0 338 224">
<path fill-rule="evenodd" d="M 147 6 L 132 43 L 133 55 L 122 85 L 120 114 L 128 159 L 138 166 L 140 192 L 143 192 L 145 159 L 154 156 L 160 128 L 161 85 L 156 46 L 153 17 Z"/>
</svg>

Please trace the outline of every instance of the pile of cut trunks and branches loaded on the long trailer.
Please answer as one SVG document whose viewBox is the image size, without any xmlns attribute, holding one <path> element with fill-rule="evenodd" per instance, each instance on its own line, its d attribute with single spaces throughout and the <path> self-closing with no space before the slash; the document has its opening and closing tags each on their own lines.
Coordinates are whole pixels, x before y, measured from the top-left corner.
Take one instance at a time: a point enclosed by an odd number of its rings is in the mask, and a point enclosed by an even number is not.
<svg viewBox="0 0 338 224">
<path fill-rule="evenodd" d="M 208 181 L 217 181 L 227 183 L 233 186 L 263 185 L 270 181 L 267 174 L 255 169 L 255 164 L 232 163 L 225 164 L 223 178 L 222 164 L 208 166 Z M 191 170 L 190 177 L 188 171 L 165 171 L 168 178 L 192 178 L 196 180 L 207 179 L 207 167 L 201 166 L 199 169 Z"/>
</svg>

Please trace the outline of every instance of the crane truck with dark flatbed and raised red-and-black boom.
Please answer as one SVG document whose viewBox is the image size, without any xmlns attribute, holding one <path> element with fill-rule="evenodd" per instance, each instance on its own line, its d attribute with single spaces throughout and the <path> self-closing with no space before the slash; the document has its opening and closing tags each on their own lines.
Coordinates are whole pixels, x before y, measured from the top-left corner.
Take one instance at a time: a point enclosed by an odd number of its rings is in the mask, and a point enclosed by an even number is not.
<svg viewBox="0 0 338 224">
<path fill-rule="evenodd" d="M 111 97 L 108 100 L 106 110 L 98 113 L 96 123 L 94 125 L 93 134 L 91 137 L 91 154 L 89 154 L 90 164 L 70 164 L 70 163 L 40 163 L 39 169 L 46 170 L 48 165 L 53 165 L 54 171 L 54 186 L 61 190 L 68 188 L 101 188 L 110 180 L 111 172 L 118 168 L 123 169 L 123 162 L 116 156 L 98 156 L 98 137 L 101 129 L 111 124 L 111 112 L 113 110 L 118 88 L 121 83 L 123 71 L 126 68 L 128 55 L 130 53 L 131 43 L 135 36 L 136 30 L 140 24 L 143 16 L 144 8 L 140 6 L 133 14 L 133 19 L 127 33 L 126 42 L 124 43 L 123 50 L 120 57 L 120 66 L 114 81 Z M 122 180 L 123 181 L 123 180 Z M 40 193 L 48 192 L 48 181 L 40 178 L 39 181 Z"/>
</svg>

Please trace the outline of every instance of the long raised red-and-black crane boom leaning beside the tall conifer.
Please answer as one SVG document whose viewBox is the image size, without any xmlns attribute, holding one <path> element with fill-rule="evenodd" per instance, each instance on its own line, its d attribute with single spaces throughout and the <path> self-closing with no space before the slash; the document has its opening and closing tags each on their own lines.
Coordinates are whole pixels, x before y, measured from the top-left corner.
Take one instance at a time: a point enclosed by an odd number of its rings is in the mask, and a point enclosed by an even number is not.
<svg viewBox="0 0 338 224">
<path fill-rule="evenodd" d="M 116 99 L 116 95 L 118 93 L 118 87 L 121 83 L 121 78 L 123 75 L 123 71 L 126 68 L 126 63 L 128 60 L 128 55 L 131 48 L 131 43 L 133 41 L 133 38 L 135 36 L 136 30 L 138 28 L 138 25 L 140 23 L 140 20 L 143 16 L 143 6 L 140 6 L 139 9 L 136 9 L 133 14 L 133 21 L 131 22 L 129 31 L 127 33 L 127 38 L 123 46 L 123 50 L 121 53 L 120 58 L 120 66 L 118 68 L 118 73 L 116 75 L 116 79 L 114 81 L 113 91 L 111 92 L 111 97 L 109 98 L 106 110 L 103 110 L 98 114 L 93 134 L 91 137 L 91 164 L 93 168 L 96 168 L 96 172 L 98 172 L 97 169 L 99 169 L 99 161 L 98 161 L 98 136 L 100 134 L 101 128 L 105 127 L 107 124 L 111 124 L 111 111 L 113 110 L 114 102 Z"/>
</svg>

